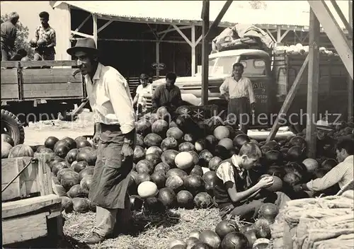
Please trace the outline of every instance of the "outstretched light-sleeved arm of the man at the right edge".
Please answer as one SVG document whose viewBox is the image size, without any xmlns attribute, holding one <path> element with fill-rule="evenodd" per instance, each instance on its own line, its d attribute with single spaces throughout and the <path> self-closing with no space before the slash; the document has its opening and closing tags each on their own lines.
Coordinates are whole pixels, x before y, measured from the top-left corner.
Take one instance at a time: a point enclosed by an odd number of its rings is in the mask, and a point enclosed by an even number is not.
<svg viewBox="0 0 354 249">
<path fill-rule="evenodd" d="M 310 180 L 309 183 L 302 185 L 303 190 L 310 191 L 321 191 L 326 190 L 329 187 L 332 187 L 343 178 L 343 175 L 346 173 L 347 169 L 343 168 L 345 164 L 338 164 L 338 166 L 332 168 L 323 178 L 317 178 L 315 180 Z"/>
</svg>

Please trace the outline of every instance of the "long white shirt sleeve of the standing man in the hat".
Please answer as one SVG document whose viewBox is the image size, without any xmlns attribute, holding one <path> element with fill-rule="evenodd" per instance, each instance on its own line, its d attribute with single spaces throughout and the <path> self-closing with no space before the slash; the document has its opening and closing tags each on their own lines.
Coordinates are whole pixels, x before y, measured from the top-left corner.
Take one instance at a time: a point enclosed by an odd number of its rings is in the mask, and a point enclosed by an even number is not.
<svg viewBox="0 0 354 249">
<path fill-rule="evenodd" d="M 105 76 L 110 95 L 110 102 L 120 125 L 123 134 L 135 129 L 135 113 L 132 108 L 132 100 L 128 96 L 124 82 L 119 74 L 114 72 Z"/>
</svg>

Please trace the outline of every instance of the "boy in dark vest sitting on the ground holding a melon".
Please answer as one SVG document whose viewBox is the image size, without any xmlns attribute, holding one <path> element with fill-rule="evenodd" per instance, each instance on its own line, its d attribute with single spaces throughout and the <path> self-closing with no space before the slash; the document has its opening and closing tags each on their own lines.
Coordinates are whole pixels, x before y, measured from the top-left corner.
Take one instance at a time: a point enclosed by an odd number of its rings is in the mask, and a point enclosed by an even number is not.
<svg viewBox="0 0 354 249">
<path fill-rule="evenodd" d="M 282 209 L 290 200 L 282 192 L 264 191 L 266 195 L 261 192 L 273 185 L 272 176 L 261 178 L 258 183 L 252 183 L 249 170 L 257 165 L 261 156 L 261 149 L 249 142 L 241 147 L 239 155 L 235 154 L 223 161 L 217 168 L 214 195 L 222 219 L 228 214 L 240 216 L 241 220 L 254 219 L 263 203 L 271 202 Z"/>
</svg>

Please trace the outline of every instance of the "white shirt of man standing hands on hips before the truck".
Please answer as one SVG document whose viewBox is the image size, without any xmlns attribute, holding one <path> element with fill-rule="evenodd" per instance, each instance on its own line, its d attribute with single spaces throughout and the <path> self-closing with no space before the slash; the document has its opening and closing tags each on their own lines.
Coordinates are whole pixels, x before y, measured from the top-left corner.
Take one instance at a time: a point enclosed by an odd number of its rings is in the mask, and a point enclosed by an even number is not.
<svg viewBox="0 0 354 249">
<path fill-rule="evenodd" d="M 249 78 L 241 77 L 239 81 L 236 81 L 234 77 L 225 79 L 224 83 L 219 88 L 220 93 L 229 93 L 230 98 L 249 98 L 250 103 L 255 103 L 252 82 Z"/>
</svg>

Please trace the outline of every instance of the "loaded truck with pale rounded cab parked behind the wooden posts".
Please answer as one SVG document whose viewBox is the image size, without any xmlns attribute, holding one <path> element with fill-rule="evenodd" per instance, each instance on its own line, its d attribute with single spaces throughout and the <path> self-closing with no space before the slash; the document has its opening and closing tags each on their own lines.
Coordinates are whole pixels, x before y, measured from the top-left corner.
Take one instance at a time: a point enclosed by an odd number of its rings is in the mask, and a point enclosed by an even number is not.
<svg viewBox="0 0 354 249">
<path fill-rule="evenodd" d="M 295 47 L 295 46 L 294 46 Z M 265 51 L 255 48 L 241 48 L 214 52 L 209 55 L 208 104 L 218 105 L 217 115 L 224 118 L 227 101 L 219 87 L 227 77 L 232 76 L 232 65 L 244 64 L 243 76 L 251 79 L 256 95 L 256 110 L 250 119 L 250 129 L 268 129 L 284 103 L 287 93 L 294 83 L 297 73 L 307 56 L 307 49 Z M 319 117 L 330 122 L 348 118 L 348 72 L 340 57 L 320 48 L 319 64 Z M 303 131 L 307 115 L 308 70 L 304 71 L 295 99 L 280 126 L 288 126 L 295 134 Z M 152 94 L 164 79 L 152 83 Z M 178 77 L 176 86 L 181 89 L 183 105 L 202 104 L 202 76 Z M 148 108 L 152 107 L 152 94 L 144 95 Z"/>
</svg>

